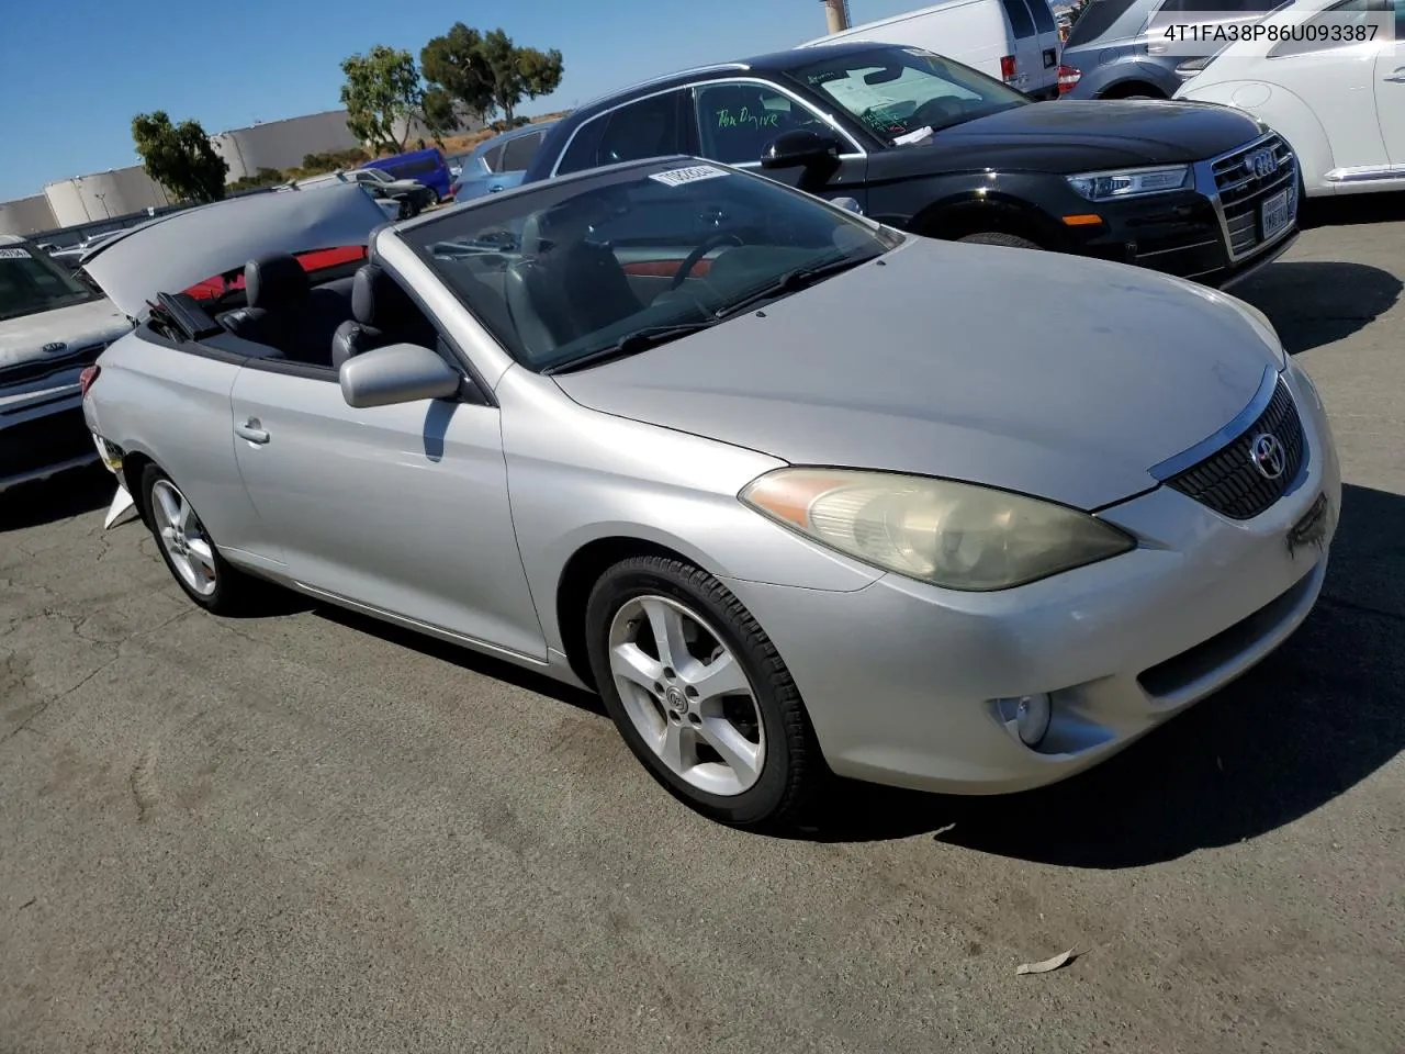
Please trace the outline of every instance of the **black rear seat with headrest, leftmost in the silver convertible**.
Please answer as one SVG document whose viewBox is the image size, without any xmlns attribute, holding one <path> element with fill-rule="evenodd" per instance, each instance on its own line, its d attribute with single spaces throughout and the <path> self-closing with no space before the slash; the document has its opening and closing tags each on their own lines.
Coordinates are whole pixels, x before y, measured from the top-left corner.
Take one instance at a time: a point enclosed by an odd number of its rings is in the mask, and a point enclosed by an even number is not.
<svg viewBox="0 0 1405 1054">
<path fill-rule="evenodd" d="M 351 318 L 346 280 L 313 287 L 302 264 L 275 253 L 244 264 L 246 308 L 226 312 L 221 323 L 236 336 L 274 347 L 285 358 L 326 365 L 336 327 Z"/>
</svg>

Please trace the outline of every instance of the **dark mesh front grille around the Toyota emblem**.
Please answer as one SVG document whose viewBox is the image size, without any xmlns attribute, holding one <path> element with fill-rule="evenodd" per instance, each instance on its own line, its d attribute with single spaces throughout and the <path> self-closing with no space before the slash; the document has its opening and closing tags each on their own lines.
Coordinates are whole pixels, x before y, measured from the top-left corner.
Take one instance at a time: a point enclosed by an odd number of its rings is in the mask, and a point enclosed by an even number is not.
<svg viewBox="0 0 1405 1054">
<path fill-rule="evenodd" d="M 1273 436 L 1283 444 L 1283 472 L 1269 479 L 1259 471 L 1250 450 L 1260 436 Z M 1228 447 L 1172 476 L 1166 485 L 1231 520 L 1252 520 L 1277 502 L 1302 468 L 1307 438 L 1298 408 L 1293 405 L 1283 381 L 1273 392 L 1267 409 Z"/>
</svg>

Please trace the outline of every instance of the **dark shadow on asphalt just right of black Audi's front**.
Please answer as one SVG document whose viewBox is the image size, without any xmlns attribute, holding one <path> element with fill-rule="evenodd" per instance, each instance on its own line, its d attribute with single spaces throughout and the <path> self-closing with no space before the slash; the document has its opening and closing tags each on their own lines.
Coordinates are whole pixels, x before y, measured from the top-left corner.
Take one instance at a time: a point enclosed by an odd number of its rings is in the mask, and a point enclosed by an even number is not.
<svg viewBox="0 0 1405 1054">
<path fill-rule="evenodd" d="M 1366 329 L 1395 306 L 1402 288 L 1380 267 L 1280 260 L 1231 292 L 1267 315 L 1283 347 L 1295 356 Z"/>
</svg>

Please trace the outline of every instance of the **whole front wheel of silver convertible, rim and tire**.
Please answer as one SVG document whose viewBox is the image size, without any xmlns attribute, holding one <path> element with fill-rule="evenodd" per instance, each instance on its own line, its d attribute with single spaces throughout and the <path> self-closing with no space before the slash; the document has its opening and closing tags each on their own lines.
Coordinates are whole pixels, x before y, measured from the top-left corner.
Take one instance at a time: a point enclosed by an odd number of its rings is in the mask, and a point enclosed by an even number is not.
<svg viewBox="0 0 1405 1054">
<path fill-rule="evenodd" d="M 776 645 L 721 582 L 635 557 L 586 604 L 590 669 L 629 749 L 676 797 L 736 826 L 794 822 L 823 762 Z"/>
</svg>

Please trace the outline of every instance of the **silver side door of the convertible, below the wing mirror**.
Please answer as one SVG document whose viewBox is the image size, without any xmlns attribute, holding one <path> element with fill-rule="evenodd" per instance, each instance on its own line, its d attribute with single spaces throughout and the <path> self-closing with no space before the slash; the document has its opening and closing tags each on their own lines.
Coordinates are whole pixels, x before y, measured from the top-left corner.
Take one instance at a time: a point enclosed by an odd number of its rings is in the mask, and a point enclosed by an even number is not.
<svg viewBox="0 0 1405 1054">
<path fill-rule="evenodd" d="M 251 360 L 235 454 L 288 573 L 334 601 L 535 659 L 496 406 L 347 406 L 330 368 Z"/>
</svg>

